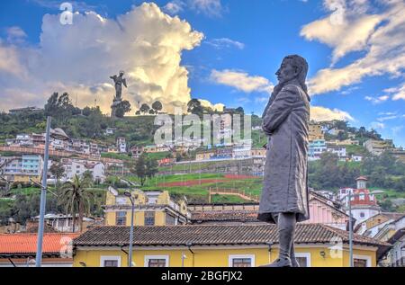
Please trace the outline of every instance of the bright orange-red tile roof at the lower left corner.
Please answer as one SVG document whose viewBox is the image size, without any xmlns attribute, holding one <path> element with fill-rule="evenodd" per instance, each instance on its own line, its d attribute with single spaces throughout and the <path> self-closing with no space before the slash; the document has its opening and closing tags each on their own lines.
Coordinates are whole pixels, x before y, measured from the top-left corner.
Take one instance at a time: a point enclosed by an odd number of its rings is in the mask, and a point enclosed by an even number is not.
<svg viewBox="0 0 405 285">
<path fill-rule="evenodd" d="M 0 235 L 0 255 L 6 254 L 35 254 L 37 251 L 37 234 Z M 79 234 L 44 234 L 42 253 L 57 254 L 63 245 L 67 245 L 65 238 L 75 238 Z"/>
</svg>

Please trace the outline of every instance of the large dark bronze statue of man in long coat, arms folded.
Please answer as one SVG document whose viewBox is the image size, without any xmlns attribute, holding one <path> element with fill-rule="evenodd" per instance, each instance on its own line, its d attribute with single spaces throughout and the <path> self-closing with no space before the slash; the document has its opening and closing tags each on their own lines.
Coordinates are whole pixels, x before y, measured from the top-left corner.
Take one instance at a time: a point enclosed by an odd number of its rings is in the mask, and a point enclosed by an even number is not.
<svg viewBox="0 0 405 285">
<path fill-rule="evenodd" d="M 294 254 L 295 224 L 310 218 L 308 148 L 310 102 L 305 79 L 307 61 L 284 58 L 275 73 L 278 85 L 263 114 L 266 145 L 265 179 L 258 219 L 278 227 L 280 252 L 264 267 L 298 267 Z"/>
</svg>

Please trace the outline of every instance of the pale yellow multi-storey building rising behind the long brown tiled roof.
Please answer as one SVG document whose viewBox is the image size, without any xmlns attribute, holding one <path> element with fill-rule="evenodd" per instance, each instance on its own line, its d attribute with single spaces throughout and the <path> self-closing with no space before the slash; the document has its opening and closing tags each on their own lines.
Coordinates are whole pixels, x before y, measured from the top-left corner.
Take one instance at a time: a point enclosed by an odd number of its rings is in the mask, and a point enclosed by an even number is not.
<svg viewBox="0 0 405 285">
<path fill-rule="evenodd" d="M 133 191 L 135 199 L 135 226 L 184 225 L 191 218 L 184 200 L 175 201 L 168 191 Z M 130 226 L 130 199 L 110 187 L 107 191 L 106 226 Z"/>
</svg>

